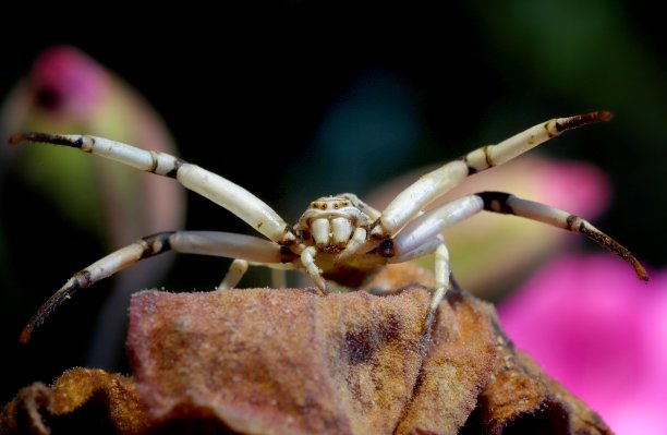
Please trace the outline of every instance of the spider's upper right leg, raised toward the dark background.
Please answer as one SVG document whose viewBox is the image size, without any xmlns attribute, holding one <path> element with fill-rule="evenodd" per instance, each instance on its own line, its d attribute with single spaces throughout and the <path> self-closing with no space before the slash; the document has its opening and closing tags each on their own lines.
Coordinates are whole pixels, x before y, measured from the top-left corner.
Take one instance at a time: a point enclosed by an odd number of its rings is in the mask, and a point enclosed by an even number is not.
<svg viewBox="0 0 667 435">
<path fill-rule="evenodd" d="M 468 176 L 505 164 L 568 130 L 593 122 L 608 121 L 610 118 L 611 114 L 605 111 L 570 118 L 555 118 L 518 133 L 497 145 L 487 145 L 468 153 L 459 160 L 450 161 L 422 176 L 399 193 L 385 208 L 379 221 L 371 232 L 378 238 L 393 235 L 424 207 Z"/>
</svg>

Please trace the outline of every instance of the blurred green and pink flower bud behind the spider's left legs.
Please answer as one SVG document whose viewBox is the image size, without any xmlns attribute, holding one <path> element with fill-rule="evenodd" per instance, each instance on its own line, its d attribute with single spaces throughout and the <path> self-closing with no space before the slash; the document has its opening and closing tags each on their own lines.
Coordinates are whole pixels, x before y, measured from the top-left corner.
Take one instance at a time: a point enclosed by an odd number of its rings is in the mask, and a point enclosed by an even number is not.
<svg viewBox="0 0 667 435">
<path fill-rule="evenodd" d="M 37 57 L 28 76 L 4 101 L 0 121 L 4 137 L 21 131 L 90 134 L 178 155 L 167 126 L 145 99 L 93 58 L 69 46 L 48 48 Z M 26 201 L 28 207 L 31 202 L 52 205 L 52 214 L 40 216 L 43 233 L 59 230 L 52 228 L 58 214 L 110 251 L 183 226 L 185 191 L 173 180 L 53 146 L 4 146 L 0 164 L 0 170 L 8 168 L 15 176 L 12 182 L 21 180 L 36 193 Z M 62 256 L 62 247 L 53 250 L 45 249 L 41 254 Z M 108 367 L 117 358 L 112 352 L 122 354 L 122 347 L 113 345 L 122 343 L 129 294 L 155 286 L 171 258 L 142 262 L 114 277 L 114 290 L 98 317 L 93 365 Z"/>
</svg>

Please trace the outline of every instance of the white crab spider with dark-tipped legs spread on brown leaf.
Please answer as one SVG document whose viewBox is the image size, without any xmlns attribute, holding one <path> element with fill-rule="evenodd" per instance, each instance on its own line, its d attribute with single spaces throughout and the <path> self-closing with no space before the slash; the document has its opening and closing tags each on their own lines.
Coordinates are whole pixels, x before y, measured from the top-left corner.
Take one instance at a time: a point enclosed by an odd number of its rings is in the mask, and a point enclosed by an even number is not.
<svg viewBox="0 0 667 435">
<path fill-rule="evenodd" d="M 496 145 L 477 148 L 424 174 L 399 193 L 383 212 L 352 193 L 323 196 L 308 205 L 294 226 L 289 226 L 271 207 L 240 185 L 163 153 L 89 135 L 14 134 L 10 137 L 11 144 L 29 142 L 74 147 L 174 178 L 186 189 L 227 208 L 268 239 L 216 231 L 169 231 L 144 237 L 74 274 L 33 315 L 20 339 L 27 342 L 33 330 L 78 289 L 169 250 L 234 258 L 219 286 L 222 289 L 235 287 L 248 265 L 260 265 L 279 270 L 275 274 L 275 285 L 283 281 L 280 278 L 283 270 L 304 271 L 323 294 L 329 292 L 327 280 L 355 288 L 387 264 L 434 254 L 436 286 L 426 319 L 428 323 L 453 282 L 449 253 L 440 232 L 482 210 L 516 215 L 581 232 L 629 262 L 640 279 L 648 280 L 644 267 L 621 244 L 579 216 L 545 204 L 509 193 L 480 192 L 427 209 L 432 202 L 466 177 L 505 164 L 565 131 L 610 118 L 607 111 L 555 118 Z"/>
</svg>

